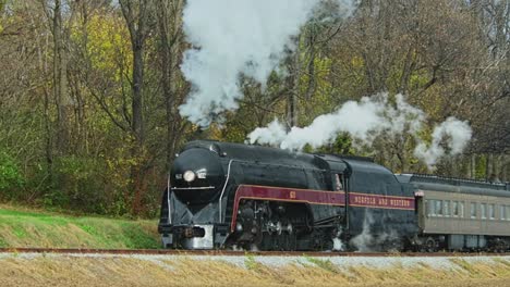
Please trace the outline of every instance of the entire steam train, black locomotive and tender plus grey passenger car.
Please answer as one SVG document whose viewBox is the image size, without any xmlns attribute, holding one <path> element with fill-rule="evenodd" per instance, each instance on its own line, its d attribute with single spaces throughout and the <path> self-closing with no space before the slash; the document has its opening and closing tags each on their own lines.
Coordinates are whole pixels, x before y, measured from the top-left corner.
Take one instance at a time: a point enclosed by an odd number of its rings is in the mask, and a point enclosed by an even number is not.
<svg viewBox="0 0 510 287">
<path fill-rule="evenodd" d="M 198 140 L 173 163 L 158 232 L 175 249 L 507 251 L 510 185 Z"/>
</svg>

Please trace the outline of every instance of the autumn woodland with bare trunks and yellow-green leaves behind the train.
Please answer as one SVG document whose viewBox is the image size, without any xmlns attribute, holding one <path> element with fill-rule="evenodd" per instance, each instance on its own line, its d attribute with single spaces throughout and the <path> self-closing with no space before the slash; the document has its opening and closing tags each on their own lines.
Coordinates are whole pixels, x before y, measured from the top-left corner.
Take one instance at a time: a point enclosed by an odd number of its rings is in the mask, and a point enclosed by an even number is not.
<svg viewBox="0 0 510 287">
<path fill-rule="evenodd" d="M 0 0 L 2 201 L 153 216 L 186 141 L 243 142 L 275 117 L 304 126 L 381 91 L 406 95 L 430 129 L 450 115 L 469 121 L 469 150 L 436 173 L 509 180 L 509 1 L 361 0 L 349 17 L 318 11 L 281 63 L 287 73 L 271 74 L 264 88 L 243 79 L 240 109 L 205 130 L 178 111 L 191 89 L 179 68 L 189 48 L 184 5 Z M 426 173 L 414 144 L 388 136 L 360 151 L 339 135 L 320 151 Z"/>
</svg>

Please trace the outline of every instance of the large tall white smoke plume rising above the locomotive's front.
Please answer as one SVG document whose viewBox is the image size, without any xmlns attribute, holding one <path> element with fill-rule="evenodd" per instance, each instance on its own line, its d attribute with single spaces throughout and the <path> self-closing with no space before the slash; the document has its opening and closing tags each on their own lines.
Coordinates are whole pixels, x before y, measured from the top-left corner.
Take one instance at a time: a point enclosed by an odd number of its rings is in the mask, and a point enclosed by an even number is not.
<svg viewBox="0 0 510 287">
<path fill-rule="evenodd" d="M 187 0 L 184 33 L 193 48 L 184 53 L 181 70 L 192 91 L 181 115 L 206 127 L 221 112 L 236 110 L 243 98 L 240 76 L 264 86 L 321 1 Z M 350 7 L 348 0 L 336 1 Z"/>
</svg>

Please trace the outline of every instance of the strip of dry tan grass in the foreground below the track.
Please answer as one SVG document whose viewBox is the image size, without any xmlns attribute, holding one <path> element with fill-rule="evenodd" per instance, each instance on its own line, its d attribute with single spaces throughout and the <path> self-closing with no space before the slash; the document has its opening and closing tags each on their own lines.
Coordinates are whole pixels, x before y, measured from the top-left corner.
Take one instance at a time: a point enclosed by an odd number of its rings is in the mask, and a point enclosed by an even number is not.
<svg viewBox="0 0 510 287">
<path fill-rule="evenodd" d="M 377 270 L 291 264 L 268 267 L 247 258 L 247 269 L 222 261 L 153 262 L 129 258 L 0 259 L 0 286 L 510 286 L 510 262 L 456 270 L 392 266 Z"/>
</svg>

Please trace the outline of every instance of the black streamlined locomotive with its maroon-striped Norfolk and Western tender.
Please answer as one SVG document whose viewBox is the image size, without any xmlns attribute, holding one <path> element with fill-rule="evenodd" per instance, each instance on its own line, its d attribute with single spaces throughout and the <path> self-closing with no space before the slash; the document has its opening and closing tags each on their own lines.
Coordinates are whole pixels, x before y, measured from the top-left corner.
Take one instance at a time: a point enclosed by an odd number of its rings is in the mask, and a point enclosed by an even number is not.
<svg viewBox="0 0 510 287">
<path fill-rule="evenodd" d="M 173 163 L 158 230 L 166 248 L 403 250 L 421 242 L 415 191 L 366 158 L 198 140 Z"/>
</svg>

